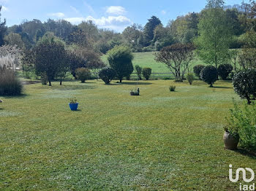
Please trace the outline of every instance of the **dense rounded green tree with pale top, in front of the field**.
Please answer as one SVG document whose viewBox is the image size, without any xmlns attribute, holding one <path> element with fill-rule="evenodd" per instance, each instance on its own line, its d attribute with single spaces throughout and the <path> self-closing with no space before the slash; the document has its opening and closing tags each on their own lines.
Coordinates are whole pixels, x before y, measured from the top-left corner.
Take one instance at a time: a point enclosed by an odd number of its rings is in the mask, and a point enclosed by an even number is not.
<svg viewBox="0 0 256 191">
<path fill-rule="evenodd" d="M 116 71 L 116 76 L 120 80 L 120 83 L 123 77 L 128 77 L 132 74 L 133 55 L 129 47 L 116 46 L 108 51 L 107 58 L 110 67 Z"/>
</svg>

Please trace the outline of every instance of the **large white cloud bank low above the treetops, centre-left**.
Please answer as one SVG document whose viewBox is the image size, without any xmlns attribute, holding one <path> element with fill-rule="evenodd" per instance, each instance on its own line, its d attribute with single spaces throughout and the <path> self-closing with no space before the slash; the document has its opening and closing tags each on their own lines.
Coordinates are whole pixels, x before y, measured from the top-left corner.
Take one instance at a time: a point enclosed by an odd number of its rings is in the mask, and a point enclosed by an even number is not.
<svg viewBox="0 0 256 191">
<path fill-rule="evenodd" d="M 92 16 L 89 17 L 69 17 L 65 18 L 65 20 L 69 21 L 72 24 L 78 24 L 82 21 L 91 20 L 94 22 L 99 28 L 110 28 L 115 31 L 123 31 L 124 28 L 132 24 L 132 21 L 129 18 L 124 16 L 108 16 L 101 18 L 94 18 Z"/>
</svg>

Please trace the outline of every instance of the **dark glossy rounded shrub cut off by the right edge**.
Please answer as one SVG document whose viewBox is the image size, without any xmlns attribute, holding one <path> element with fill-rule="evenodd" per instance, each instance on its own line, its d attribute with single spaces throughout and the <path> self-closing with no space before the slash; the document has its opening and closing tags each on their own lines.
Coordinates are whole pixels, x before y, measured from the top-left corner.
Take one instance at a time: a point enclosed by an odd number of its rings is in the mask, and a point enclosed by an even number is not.
<svg viewBox="0 0 256 191">
<path fill-rule="evenodd" d="M 251 100 L 256 98 L 256 70 L 247 69 L 234 74 L 233 86 L 235 92 L 251 104 Z"/>
</svg>

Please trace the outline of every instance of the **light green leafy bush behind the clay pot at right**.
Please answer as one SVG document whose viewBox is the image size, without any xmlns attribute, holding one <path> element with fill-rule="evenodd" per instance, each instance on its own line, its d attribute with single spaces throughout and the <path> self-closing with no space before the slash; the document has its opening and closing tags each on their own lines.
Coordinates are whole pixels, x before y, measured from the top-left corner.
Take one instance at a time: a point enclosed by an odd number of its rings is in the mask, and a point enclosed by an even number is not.
<svg viewBox="0 0 256 191">
<path fill-rule="evenodd" d="M 240 145 L 244 149 L 256 151 L 256 105 L 252 106 L 244 104 L 238 107 L 234 103 L 234 109 L 230 109 L 231 116 L 229 128 L 233 132 L 237 132 L 240 137 Z"/>
</svg>

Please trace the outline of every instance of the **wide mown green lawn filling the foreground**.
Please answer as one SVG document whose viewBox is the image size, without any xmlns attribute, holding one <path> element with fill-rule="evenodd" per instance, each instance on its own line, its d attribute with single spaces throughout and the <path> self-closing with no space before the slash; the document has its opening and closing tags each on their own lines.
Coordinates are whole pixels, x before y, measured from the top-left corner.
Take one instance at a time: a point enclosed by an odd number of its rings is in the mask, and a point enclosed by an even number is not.
<svg viewBox="0 0 256 191">
<path fill-rule="evenodd" d="M 133 81 L 26 85 L 0 105 L 0 190 L 238 190 L 229 165 L 255 170 L 255 157 L 224 149 L 241 100 L 230 82 L 215 86 L 140 81 L 130 96 Z"/>
</svg>

